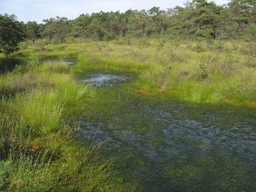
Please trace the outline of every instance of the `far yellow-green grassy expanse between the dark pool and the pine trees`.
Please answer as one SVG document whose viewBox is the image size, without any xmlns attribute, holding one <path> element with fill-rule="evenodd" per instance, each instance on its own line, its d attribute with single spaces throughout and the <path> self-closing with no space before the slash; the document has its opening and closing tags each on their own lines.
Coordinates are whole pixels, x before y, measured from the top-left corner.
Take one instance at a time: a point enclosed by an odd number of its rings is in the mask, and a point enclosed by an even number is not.
<svg viewBox="0 0 256 192">
<path fill-rule="evenodd" d="M 255 105 L 255 44 L 237 41 L 176 41 L 121 38 L 61 45 L 24 43 L 25 55 L 78 57 L 77 73 L 113 69 L 139 73 L 139 92 L 168 92 L 193 102 Z"/>
</svg>

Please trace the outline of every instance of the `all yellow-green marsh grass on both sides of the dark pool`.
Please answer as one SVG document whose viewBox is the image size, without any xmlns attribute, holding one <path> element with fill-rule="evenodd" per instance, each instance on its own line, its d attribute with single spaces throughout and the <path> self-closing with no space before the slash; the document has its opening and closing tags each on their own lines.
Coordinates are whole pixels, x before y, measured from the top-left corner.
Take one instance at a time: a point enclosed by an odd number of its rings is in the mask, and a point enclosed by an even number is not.
<svg viewBox="0 0 256 192">
<path fill-rule="evenodd" d="M 128 38 L 56 45 L 39 41 L 36 46 L 25 42 L 25 56 L 78 56 L 79 64 L 19 65 L 0 76 L 0 191 L 127 191 L 129 183 L 115 182 L 112 164 L 94 146 L 73 139 L 67 114 L 79 109 L 80 101 L 90 105 L 95 95 L 74 74 L 128 70 L 139 74 L 138 93 L 253 105 L 256 51 L 249 44 L 235 45 Z"/>
</svg>

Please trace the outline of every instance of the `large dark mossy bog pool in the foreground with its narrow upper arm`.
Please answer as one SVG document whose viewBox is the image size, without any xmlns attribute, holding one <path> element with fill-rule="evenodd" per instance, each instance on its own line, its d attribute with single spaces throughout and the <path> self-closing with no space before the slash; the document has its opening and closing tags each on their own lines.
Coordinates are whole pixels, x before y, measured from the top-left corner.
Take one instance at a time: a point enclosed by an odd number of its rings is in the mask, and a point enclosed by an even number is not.
<svg viewBox="0 0 256 192">
<path fill-rule="evenodd" d="M 129 94 L 132 78 L 83 76 L 107 100 L 83 119 L 83 139 L 104 142 L 124 181 L 136 178 L 137 191 L 256 191 L 255 110 Z"/>
</svg>

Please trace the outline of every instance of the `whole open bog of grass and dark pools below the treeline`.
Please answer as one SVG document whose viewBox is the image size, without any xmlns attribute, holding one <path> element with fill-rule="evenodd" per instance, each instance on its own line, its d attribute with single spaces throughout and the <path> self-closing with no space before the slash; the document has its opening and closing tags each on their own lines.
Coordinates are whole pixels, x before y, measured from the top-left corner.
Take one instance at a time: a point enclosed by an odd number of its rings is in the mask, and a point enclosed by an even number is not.
<svg viewBox="0 0 256 192">
<path fill-rule="evenodd" d="M 20 51 L 0 55 L 0 191 L 256 191 L 255 43 Z"/>
</svg>

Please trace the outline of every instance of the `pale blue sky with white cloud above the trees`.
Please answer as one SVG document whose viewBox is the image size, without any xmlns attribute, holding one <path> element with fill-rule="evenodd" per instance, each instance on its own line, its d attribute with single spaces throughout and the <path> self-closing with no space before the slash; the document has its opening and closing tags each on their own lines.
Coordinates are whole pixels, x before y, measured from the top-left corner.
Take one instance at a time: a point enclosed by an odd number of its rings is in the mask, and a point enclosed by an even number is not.
<svg viewBox="0 0 256 192">
<path fill-rule="evenodd" d="M 191 0 L 192 1 L 192 0 Z M 228 4 L 229 0 L 215 0 L 215 4 Z M 128 9 L 146 11 L 152 7 L 167 10 L 183 6 L 186 0 L 0 0 L 0 14 L 14 14 L 18 21 L 27 23 L 56 16 L 75 19 L 80 14 L 92 14 L 110 11 L 124 13 Z"/>
</svg>

